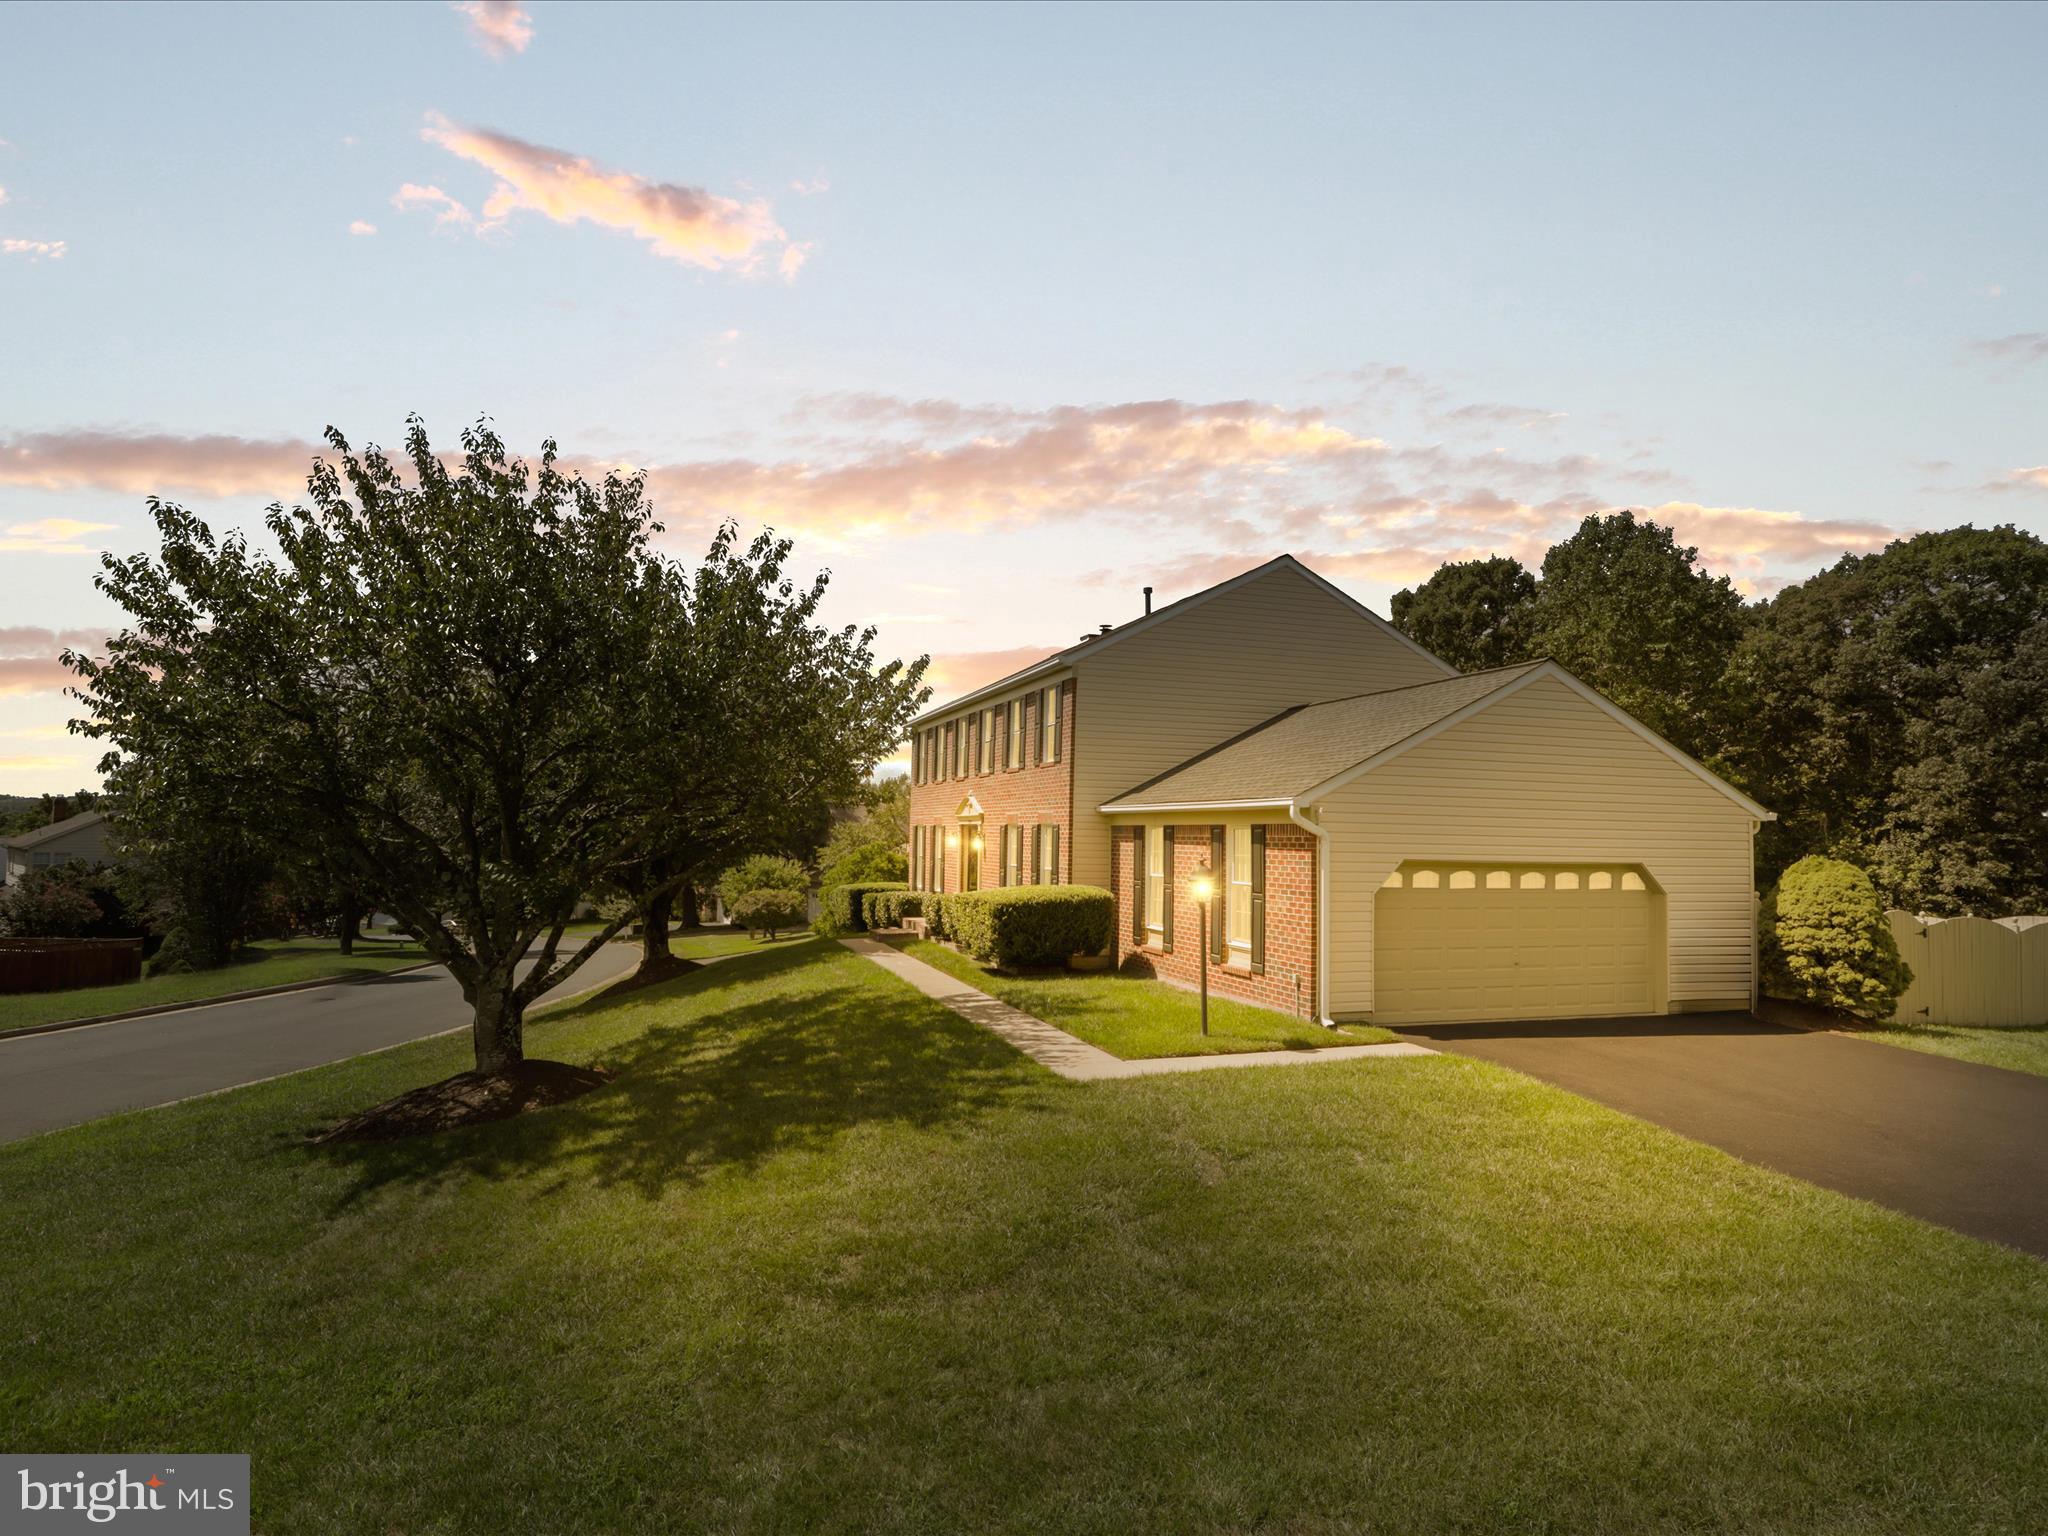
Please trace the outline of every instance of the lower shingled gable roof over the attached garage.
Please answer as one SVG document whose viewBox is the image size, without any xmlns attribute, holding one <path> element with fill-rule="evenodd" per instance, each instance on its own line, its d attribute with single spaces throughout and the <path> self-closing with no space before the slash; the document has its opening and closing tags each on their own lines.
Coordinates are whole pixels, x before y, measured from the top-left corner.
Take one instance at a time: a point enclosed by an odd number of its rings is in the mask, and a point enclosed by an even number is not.
<svg viewBox="0 0 2048 1536">
<path fill-rule="evenodd" d="M 1438 731 L 1470 719 L 1542 678 L 1556 678 L 1759 821 L 1778 819 L 1724 778 L 1673 748 L 1626 709 L 1548 659 L 1331 698 L 1321 705 L 1296 705 L 1262 725 L 1253 725 L 1243 735 L 1124 791 L 1100 809 L 1110 813 L 1206 811 L 1231 805 L 1319 801 L 1382 762 L 1421 745 Z"/>
</svg>

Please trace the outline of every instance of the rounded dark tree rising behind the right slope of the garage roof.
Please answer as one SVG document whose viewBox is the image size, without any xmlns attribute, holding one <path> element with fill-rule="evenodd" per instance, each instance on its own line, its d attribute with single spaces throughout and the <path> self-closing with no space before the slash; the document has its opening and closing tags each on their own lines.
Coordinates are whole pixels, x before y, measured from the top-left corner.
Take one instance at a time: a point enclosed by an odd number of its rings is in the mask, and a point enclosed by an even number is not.
<svg viewBox="0 0 2048 1536">
<path fill-rule="evenodd" d="M 1702 569 L 1698 549 L 1634 512 L 1608 512 L 1544 555 L 1526 653 L 1552 657 L 1667 741 L 1704 756 L 1743 625 L 1741 594 Z"/>
</svg>

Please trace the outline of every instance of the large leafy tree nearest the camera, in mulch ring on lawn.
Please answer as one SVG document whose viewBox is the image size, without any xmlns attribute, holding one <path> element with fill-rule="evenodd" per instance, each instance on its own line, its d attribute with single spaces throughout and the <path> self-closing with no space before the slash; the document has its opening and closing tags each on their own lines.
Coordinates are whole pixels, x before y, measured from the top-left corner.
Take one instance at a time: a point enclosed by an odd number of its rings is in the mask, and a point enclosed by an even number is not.
<svg viewBox="0 0 2048 1536">
<path fill-rule="evenodd" d="M 84 729 L 123 797 L 209 801 L 340 856 L 457 977 L 477 1067 L 504 1071 L 526 1006 L 629 920 L 563 948 L 584 893 L 670 836 L 672 770 L 758 758 L 729 731 L 778 717 L 705 711 L 688 578 L 649 549 L 639 477 L 563 475 L 553 442 L 528 471 L 485 426 L 451 467 L 412 422 L 410 473 L 328 440 L 309 506 L 270 508 L 276 557 L 152 502 L 162 555 L 100 575 L 129 627 L 104 662 L 70 657 Z"/>
</svg>

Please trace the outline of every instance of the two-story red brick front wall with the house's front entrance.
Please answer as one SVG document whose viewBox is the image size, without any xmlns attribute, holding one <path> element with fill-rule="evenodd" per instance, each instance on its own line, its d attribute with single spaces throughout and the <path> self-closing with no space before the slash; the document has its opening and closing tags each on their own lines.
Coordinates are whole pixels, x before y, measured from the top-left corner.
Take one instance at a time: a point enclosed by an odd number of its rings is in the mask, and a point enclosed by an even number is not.
<svg viewBox="0 0 2048 1536">
<path fill-rule="evenodd" d="M 1051 684 L 1049 684 L 1051 686 Z M 987 709 L 967 709 L 920 729 L 911 737 L 909 786 L 909 870 L 911 885 L 924 891 L 958 891 L 967 856 L 963 823 L 954 813 L 969 795 L 981 805 L 981 881 L 979 889 L 1004 885 L 1004 827 L 1018 827 L 1018 885 L 1057 885 L 1073 879 L 1073 702 L 1069 678 L 1059 686 L 1057 758 L 1044 760 L 1044 729 L 1040 709 L 1047 688 L 1034 688 L 1024 698 L 1024 735 L 1018 766 L 1010 764 L 1010 696 L 995 707 L 995 735 L 981 762 L 981 731 L 989 723 Z M 1014 694 L 1012 694 L 1014 696 Z M 963 739 L 967 743 L 963 774 Z M 1040 868 L 1040 827 L 1059 827 L 1059 870 Z M 971 836 L 971 831 L 967 834 Z M 948 846 L 952 838 L 952 846 Z M 938 862 L 932 864 L 932 856 Z M 944 877 L 940 887 L 938 877 Z"/>
</svg>

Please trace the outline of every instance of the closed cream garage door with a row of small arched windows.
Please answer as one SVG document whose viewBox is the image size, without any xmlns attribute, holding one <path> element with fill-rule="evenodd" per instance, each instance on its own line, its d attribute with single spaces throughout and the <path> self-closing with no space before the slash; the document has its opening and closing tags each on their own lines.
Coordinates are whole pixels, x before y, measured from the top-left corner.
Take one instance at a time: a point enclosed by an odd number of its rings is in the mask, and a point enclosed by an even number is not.
<svg viewBox="0 0 2048 1536">
<path fill-rule="evenodd" d="M 1661 903 L 1624 864 L 1403 864 L 1372 924 L 1372 1018 L 1647 1014 Z"/>
</svg>

